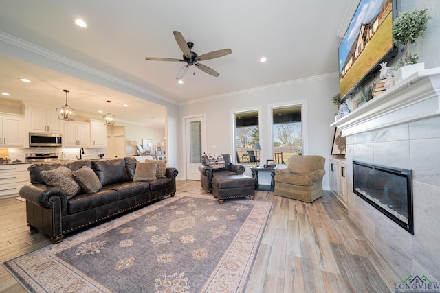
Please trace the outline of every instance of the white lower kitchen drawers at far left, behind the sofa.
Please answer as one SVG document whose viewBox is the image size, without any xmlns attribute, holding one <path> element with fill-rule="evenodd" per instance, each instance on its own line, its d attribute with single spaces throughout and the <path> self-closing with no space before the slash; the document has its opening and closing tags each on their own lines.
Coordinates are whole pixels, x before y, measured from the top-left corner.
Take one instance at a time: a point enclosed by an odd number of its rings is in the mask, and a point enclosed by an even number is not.
<svg viewBox="0 0 440 293">
<path fill-rule="evenodd" d="M 0 165 L 0 198 L 19 196 L 23 185 L 30 183 L 28 167 L 31 164 Z"/>
</svg>

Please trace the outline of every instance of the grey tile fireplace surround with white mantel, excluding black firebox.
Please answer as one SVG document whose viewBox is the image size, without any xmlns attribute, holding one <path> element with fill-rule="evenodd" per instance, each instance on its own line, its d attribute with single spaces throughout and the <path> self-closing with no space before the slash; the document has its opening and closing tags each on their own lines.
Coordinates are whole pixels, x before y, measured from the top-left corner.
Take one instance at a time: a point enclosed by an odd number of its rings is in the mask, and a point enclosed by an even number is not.
<svg viewBox="0 0 440 293">
<path fill-rule="evenodd" d="M 351 220 L 401 280 L 440 281 L 440 67 L 412 74 L 331 126 L 347 137 Z M 353 193 L 353 160 L 412 169 L 414 235 Z"/>
</svg>

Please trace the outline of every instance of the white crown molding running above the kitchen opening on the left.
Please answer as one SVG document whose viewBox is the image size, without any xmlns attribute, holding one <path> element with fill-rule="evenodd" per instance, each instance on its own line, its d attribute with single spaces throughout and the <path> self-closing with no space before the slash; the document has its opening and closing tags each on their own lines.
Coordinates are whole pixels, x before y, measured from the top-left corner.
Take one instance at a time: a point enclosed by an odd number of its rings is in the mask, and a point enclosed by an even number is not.
<svg viewBox="0 0 440 293">
<path fill-rule="evenodd" d="M 83 63 L 77 62 L 73 59 L 67 58 L 67 57 L 62 56 L 60 54 L 57 54 L 53 51 L 44 49 L 43 47 L 39 47 L 39 46 L 34 45 L 32 43 L 29 43 L 25 40 L 21 40 L 21 38 L 17 38 L 15 36 L 10 35 L 10 34 L 6 34 L 5 32 L 0 31 L 0 40 L 5 43 L 8 43 L 10 45 L 13 45 L 15 47 L 19 47 L 19 48 L 24 49 L 26 51 L 30 51 L 34 54 L 39 55 L 39 56 L 43 56 L 43 57 L 48 58 L 50 60 L 54 60 L 58 63 L 63 64 L 63 65 L 67 65 L 69 67 L 72 67 L 74 69 L 78 69 L 78 70 L 83 71 L 85 73 L 88 73 L 90 75 L 94 75 L 98 78 L 102 78 L 103 80 L 107 80 L 109 82 L 113 82 L 113 83 L 118 84 L 120 86 L 124 86 L 124 87 L 131 89 L 133 91 L 144 93 L 146 95 L 151 95 L 151 97 L 161 99 L 164 102 L 178 105 L 178 103 L 173 99 L 168 99 L 167 97 L 159 95 L 159 94 L 157 94 L 153 91 L 150 91 L 148 89 L 145 89 L 142 86 L 137 86 L 136 84 L 133 84 L 131 82 L 126 82 L 125 80 L 122 80 L 120 78 L 116 78 L 115 76 L 110 75 L 109 73 L 105 73 L 104 71 L 100 71 L 98 69 L 95 69 L 94 67 L 90 67 L 90 66 L 85 65 Z"/>
</svg>

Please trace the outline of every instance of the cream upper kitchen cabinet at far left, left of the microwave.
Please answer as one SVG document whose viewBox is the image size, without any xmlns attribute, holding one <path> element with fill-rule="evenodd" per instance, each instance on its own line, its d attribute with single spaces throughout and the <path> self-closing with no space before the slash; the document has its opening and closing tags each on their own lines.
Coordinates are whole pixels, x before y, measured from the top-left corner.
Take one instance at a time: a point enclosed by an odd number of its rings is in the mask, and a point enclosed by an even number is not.
<svg viewBox="0 0 440 293">
<path fill-rule="evenodd" d="M 0 148 L 22 148 L 24 117 L 0 115 Z"/>
</svg>

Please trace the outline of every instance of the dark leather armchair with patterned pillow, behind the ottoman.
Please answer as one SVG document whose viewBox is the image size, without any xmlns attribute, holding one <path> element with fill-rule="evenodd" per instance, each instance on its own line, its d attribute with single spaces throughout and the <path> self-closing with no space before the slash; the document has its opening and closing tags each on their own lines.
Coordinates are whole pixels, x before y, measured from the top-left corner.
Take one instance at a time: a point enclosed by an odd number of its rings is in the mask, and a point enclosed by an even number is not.
<svg viewBox="0 0 440 293">
<path fill-rule="evenodd" d="M 201 165 L 199 165 L 200 183 L 207 194 L 212 194 L 212 177 L 216 174 L 228 176 L 243 174 L 245 172 L 245 167 L 243 165 L 232 163 L 230 154 L 222 154 L 222 156 L 225 160 L 225 167 L 217 169 L 214 169 L 210 166 L 208 156 L 206 156 L 206 154 L 201 156 Z"/>
</svg>

